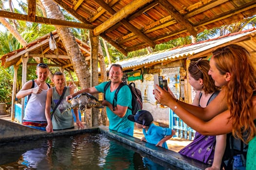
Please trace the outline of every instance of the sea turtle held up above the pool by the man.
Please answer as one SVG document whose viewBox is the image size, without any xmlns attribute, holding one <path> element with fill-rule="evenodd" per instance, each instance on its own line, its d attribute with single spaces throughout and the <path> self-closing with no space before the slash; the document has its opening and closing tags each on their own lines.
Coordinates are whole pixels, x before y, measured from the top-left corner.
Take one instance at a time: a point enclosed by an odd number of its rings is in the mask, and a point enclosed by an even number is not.
<svg viewBox="0 0 256 170">
<path fill-rule="evenodd" d="M 94 97 L 89 93 L 81 93 L 75 96 L 74 98 L 70 99 L 68 102 L 71 103 L 71 107 L 67 108 L 62 113 L 74 108 L 79 108 L 80 112 L 84 112 L 85 109 L 90 109 L 92 107 L 95 107 L 95 108 L 104 107 L 96 97 Z"/>
</svg>

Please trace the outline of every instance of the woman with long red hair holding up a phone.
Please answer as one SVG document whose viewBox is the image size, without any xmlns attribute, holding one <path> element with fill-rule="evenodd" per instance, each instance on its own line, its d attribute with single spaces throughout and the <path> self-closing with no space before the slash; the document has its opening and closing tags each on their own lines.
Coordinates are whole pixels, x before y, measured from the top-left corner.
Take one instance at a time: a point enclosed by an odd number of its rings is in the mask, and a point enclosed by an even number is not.
<svg viewBox="0 0 256 170">
<path fill-rule="evenodd" d="M 213 51 L 208 74 L 221 91 L 205 108 L 178 101 L 170 90 L 159 86 L 156 99 L 202 135 L 232 132 L 249 143 L 246 169 L 252 170 L 256 168 L 256 72 L 250 53 L 234 44 L 218 48 Z"/>
</svg>

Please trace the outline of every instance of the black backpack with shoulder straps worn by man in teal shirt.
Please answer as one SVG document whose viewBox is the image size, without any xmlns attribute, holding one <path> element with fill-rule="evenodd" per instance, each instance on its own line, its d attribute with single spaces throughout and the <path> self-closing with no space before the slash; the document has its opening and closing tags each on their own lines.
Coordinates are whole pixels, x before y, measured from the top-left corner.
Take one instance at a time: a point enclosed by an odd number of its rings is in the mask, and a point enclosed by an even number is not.
<svg viewBox="0 0 256 170">
<path fill-rule="evenodd" d="M 105 92 L 108 88 L 108 86 L 111 84 L 111 81 L 109 81 L 105 86 L 104 86 L 104 98 L 105 98 Z M 120 90 L 120 88 L 124 85 L 127 85 L 125 83 L 121 83 L 117 90 L 116 90 L 116 93 L 115 93 L 115 97 L 113 99 L 113 103 L 112 103 L 112 106 L 113 106 L 113 110 L 115 108 L 115 105 L 114 105 L 114 102 L 115 100 L 118 101 L 118 92 Z M 129 88 L 131 90 L 131 93 L 132 93 L 132 108 L 129 108 L 131 111 L 132 111 L 132 114 L 135 115 L 137 113 L 138 110 L 141 110 L 142 109 L 142 96 L 141 96 L 141 92 L 138 88 L 136 88 L 135 86 L 135 83 L 130 83 L 129 85 Z"/>
</svg>

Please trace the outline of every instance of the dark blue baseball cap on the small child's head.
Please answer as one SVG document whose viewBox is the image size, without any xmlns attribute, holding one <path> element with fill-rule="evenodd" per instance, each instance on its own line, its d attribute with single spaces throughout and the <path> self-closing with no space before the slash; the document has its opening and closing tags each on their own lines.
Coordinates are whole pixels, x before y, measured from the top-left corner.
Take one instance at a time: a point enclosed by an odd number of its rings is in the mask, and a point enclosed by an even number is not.
<svg viewBox="0 0 256 170">
<path fill-rule="evenodd" d="M 147 110 L 138 110 L 136 115 L 129 115 L 128 119 L 145 126 L 149 126 L 154 120 L 151 113 Z"/>
</svg>

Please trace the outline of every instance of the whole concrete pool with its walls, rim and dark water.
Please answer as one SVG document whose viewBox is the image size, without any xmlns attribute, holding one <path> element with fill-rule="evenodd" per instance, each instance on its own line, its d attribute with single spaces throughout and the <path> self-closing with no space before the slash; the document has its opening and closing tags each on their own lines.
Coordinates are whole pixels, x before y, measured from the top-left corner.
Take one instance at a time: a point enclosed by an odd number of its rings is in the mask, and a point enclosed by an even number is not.
<svg viewBox="0 0 256 170">
<path fill-rule="evenodd" d="M 87 134 L 88 136 L 90 136 L 89 134 L 101 134 L 104 137 L 95 136 L 92 139 L 90 139 L 89 137 L 88 139 L 86 138 L 86 140 L 74 140 L 75 136 L 85 134 Z M 45 139 L 46 141 L 44 141 Z M 57 139 L 60 140 L 57 142 Z M 65 141 L 66 139 L 69 140 Z M 100 140 L 107 140 L 109 141 L 109 144 L 106 145 L 105 142 L 103 142 L 105 145 L 102 145 L 102 143 L 99 142 Z M 96 141 L 99 142 L 97 144 L 99 148 L 98 150 L 92 147 L 92 144 L 95 143 Z M 114 145 L 112 143 L 114 143 Z M 115 143 L 117 143 L 117 146 Z M 67 150 L 66 145 L 69 146 L 67 153 L 70 153 L 67 157 L 64 156 L 64 153 Z M 54 146 L 59 146 L 59 148 Z M 121 147 L 126 150 L 118 151 L 118 149 Z M 82 149 L 85 149 L 85 151 L 83 151 Z M 89 152 L 89 156 L 83 157 L 82 153 L 86 153 L 87 151 Z M 109 155 L 111 154 L 109 153 L 111 153 L 112 151 L 114 151 L 113 155 L 116 156 L 114 156 L 113 159 L 112 156 L 110 157 L 110 159 Z M 116 151 L 117 153 L 115 153 Z M 133 151 L 133 157 L 129 156 L 129 151 Z M 99 153 L 104 154 L 99 155 Z M 128 158 L 124 158 L 123 154 L 127 154 Z M 31 155 L 33 159 L 29 160 Z M 84 129 L 75 128 L 63 131 L 56 131 L 54 133 L 46 133 L 43 131 L 22 126 L 19 123 L 14 123 L 0 119 L 0 170 L 35 170 L 35 168 L 27 168 L 28 164 L 31 164 L 29 165 L 31 167 L 42 166 L 42 168 L 37 168 L 38 170 L 69 170 L 73 169 L 74 167 L 74 169 L 87 170 L 90 168 L 89 165 L 88 168 L 87 165 L 83 168 L 78 168 L 76 163 L 81 162 L 82 164 L 83 162 L 88 162 L 89 160 L 95 161 L 93 165 L 91 165 L 95 170 L 118 170 L 122 168 L 115 167 L 114 165 L 115 163 L 120 163 L 119 158 L 122 158 L 121 161 L 125 160 L 123 164 L 131 164 L 131 168 L 128 167 L 127 170 L 140 170 L 147 168 L 144 167 L 143 163 L 141 163 L 142 156 L 145 157 L 143 158 L 144 162 L 157 162 L 164 169 L 178 169 L 177 167 L 179 167 L 182 170 L 205 170 L 208 167 L 208 165 L 206 164 L 203 164 L 194 159 L 190 159 L 186 156 L 182 156 L 181 154 L 176 153 L 174 151 L 157 147 L 148 142 L 140 141 L 140 139 L 133 136 L 128 136 L 122 133 L 118 133 L 116 131 L 111 131 L 107 126 L 95 126 L 92 128 Z M 140 157 L 140 159 L 138 159 L 138 157 Z M 40 161 L 38 161 L 38 159 Z M 108 162 L 113 162 L 113 165 L 109 165 Z M 138 162 L 140 162 L 140 166 L 138 165 Z M 67 166 L 65 164 L 67 164 Z M 102 167 L 102 165 L 104 165 L 105 167 Z M 171 165 L 176 166 L 176 168 L 173 168 L 173 166 Z"/>
</svg>

